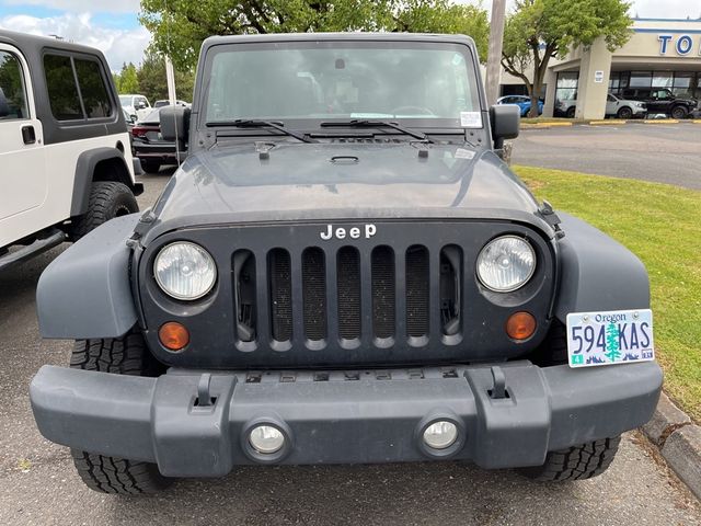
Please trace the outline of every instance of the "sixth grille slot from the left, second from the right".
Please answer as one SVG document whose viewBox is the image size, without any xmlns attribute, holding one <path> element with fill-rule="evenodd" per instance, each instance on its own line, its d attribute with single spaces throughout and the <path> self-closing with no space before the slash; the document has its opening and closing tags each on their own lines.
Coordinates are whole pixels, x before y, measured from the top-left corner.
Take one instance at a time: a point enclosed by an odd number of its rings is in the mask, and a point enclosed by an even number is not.
<svg viewBox="0 0 701 526">
<path fill-rule="evenodd" d="M 413 245 L 406 250 L 406 333 L 428 334 L 428 250 Z"/>
</svg>

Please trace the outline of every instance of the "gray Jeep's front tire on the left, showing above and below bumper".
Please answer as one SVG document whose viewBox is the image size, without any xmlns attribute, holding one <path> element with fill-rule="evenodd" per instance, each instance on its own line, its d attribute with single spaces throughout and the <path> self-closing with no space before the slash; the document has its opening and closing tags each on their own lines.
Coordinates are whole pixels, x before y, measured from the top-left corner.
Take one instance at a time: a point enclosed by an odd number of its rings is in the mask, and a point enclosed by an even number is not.
<svg viewBox="0 0 701 526">
<path fill-rule="evenodd" d="M 143 336 L 135 331 L 122 338 L 76 341 L 70 366 L 117 375 L 157 376 L 161 373 L 160 364 L 146 350 Z M 154 464 L 80 449 L 70 453 L 78 474 L 94 491 L 136 495 L 160 491 L 173 481 L 163 477 Z"/>
</svg>

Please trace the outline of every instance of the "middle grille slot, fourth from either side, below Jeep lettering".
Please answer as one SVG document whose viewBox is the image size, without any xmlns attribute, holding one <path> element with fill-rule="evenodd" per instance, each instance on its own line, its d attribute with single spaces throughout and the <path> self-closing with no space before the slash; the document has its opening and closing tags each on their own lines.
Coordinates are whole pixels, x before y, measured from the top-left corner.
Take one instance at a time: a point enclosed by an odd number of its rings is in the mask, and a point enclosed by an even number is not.
<svg viewBox="0 0 701 526">
<path fill-rule="evenodd" d="M 354 247 L 343 247 L 336 259 L 338 290 L 338 335 L 344 340 L 360 338 L 360 254 Z"/>
</svg>

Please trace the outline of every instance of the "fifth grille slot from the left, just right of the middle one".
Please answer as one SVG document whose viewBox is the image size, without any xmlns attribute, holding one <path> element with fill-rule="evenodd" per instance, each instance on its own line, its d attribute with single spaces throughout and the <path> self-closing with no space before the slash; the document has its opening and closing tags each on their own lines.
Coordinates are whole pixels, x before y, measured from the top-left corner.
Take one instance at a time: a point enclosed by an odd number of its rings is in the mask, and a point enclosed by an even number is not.
<svg viewBox="0 0 701 526">
<path fill-rule="evenodd" d="M 372 333 L 375 338 L 394 335 L 394 252 L 389 247 L 372 251 Z"/>
</svg>

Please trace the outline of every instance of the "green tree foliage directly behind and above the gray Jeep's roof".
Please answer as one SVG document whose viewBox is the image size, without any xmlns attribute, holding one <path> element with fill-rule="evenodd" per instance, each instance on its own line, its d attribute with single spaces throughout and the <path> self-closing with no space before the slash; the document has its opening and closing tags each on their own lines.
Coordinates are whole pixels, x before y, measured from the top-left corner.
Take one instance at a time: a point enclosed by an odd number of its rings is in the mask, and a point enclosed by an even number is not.
<svg viewBox="0 0 701 526">
<path fill-rule="evenodd" d="M 180 69 L 197 61 L 211 35 L 321 31 L 464 33 L 486 56 L 486 11 L 450 0 L 141 0 L 153 49 Z"/>
</svg>

